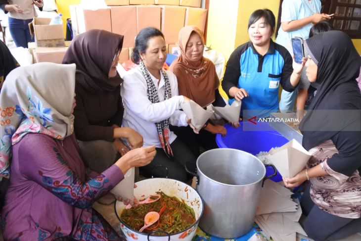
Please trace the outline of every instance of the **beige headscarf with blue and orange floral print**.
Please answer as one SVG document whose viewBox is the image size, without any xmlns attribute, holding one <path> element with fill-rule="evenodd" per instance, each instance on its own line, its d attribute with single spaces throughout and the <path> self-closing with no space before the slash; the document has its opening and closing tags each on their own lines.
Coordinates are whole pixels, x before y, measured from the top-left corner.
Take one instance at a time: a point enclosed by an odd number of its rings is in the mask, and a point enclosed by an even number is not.
<svg viewBox="0 0 361 241">
<path fill-rule="evenodd" d="M 0 94 L 0 176 L 8 178 L 12 145 L 27 133 L 64 139 L 73 133 L 75 64 L 37 63 L 10 72 Z"/>
</svg>

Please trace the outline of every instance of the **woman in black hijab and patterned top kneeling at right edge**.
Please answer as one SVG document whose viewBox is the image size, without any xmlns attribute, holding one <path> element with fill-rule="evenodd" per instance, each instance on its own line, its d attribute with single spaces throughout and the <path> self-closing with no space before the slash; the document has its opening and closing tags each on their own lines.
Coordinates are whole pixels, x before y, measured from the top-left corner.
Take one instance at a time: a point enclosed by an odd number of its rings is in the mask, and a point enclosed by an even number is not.
<svg viewBox="0 0 361 241">
<path fill-rule="evenodd" d="M 302 145 L 312 157 L 306 169 L 283 181 L 286 187 L 311 182 L 301 199 L 310 238 L 342 239 L 361 231 L 361 94 L 356 81 L 361 57 L 340 31 L 304 43 L 307 76 L 318 84 L 311 111 L 300 124 Z"/>
</svg>

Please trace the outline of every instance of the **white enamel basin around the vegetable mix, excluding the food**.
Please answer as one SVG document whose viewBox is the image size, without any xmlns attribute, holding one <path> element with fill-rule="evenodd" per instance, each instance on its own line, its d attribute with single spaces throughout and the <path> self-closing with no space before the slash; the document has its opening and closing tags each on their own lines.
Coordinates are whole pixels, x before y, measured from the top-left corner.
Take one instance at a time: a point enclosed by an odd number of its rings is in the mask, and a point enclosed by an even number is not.
<svg viewBox="0 0 361 241">
<path fill-rule="evenodd" d="M 195 235 L 198 227 L 199 219 L 203 213 L 203 201 L 199 194 L 189 185 L 180 181 L 168 178 L 151 178 L 139 181 L 134 189 L 134 195 L 137 199 L 144 199 L 145 197 L 155 194 L 158 191 L 163 191 L 169 196 L 177 196 L 180 200 L 193 208 L 196 221 L 186 230 L 182 230 L 177 234 L 168 234 L 161 232 L 157 234 L 144 234 L 137 230 L 133 230 L 120 219 L 120 215 L 125 208 L 123 202 L 115 202 L 115 214 L 120 221 L 120 227 L 127 241 L 191 241 Z"/>
</svg>

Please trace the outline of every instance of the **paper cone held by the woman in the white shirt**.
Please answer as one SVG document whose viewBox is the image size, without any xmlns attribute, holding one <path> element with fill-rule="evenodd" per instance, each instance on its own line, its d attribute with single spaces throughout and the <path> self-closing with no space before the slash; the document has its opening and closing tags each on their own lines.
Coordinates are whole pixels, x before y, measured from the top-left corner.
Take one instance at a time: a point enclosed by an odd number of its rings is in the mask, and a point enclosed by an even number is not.
<svg viewBox="0 0 361 241">
<path fill-rule="evenodd" d="M 202 129 L 209 117 L 213 114 L 213 111 L 203 109 L 193 100 L 181 103 L 181 108 L 187 117 L 191 119 L 190 122 L 195 127 L 196 131 Z"/>
</svg>

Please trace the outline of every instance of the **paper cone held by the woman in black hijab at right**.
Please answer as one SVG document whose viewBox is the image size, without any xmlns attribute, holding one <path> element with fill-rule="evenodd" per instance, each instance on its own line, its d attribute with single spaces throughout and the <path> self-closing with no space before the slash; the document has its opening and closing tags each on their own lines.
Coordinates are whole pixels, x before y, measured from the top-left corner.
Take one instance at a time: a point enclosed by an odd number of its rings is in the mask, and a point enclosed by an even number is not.
<svg viewBox="0 0 361 241">
<path fill-rule="evenodd" d="M 306 166 L 311 154 L 296 140 L 277 149 L 271 148 L 269 158 L 282 177 L 294 177 Z"/>
</svg>

